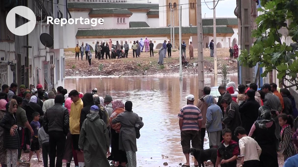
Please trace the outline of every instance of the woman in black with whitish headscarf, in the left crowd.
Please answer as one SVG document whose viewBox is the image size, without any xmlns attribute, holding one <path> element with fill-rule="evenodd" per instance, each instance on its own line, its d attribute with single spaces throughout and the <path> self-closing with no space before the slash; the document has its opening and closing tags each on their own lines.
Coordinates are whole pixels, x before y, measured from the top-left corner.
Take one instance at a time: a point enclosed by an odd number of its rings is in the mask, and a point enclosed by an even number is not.
<svg viewBox="0 0 298 167">
<path fill-rule="evenodd" d="M 37 104 L 38 100 L 39 99 L 35 95 L 31 96 L 27 107 L 24 108 L 26 111 L 28 122 L 32 122 L 32 120 L 33 120 L 32 114 L 34 112 L 38 112 L 40 114 L 40 116 L 44 115 L 44 111 L 42 111 L 41 106 Z"/>
</svg>

